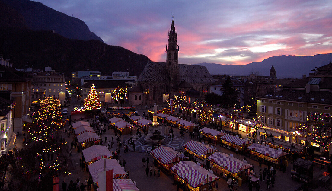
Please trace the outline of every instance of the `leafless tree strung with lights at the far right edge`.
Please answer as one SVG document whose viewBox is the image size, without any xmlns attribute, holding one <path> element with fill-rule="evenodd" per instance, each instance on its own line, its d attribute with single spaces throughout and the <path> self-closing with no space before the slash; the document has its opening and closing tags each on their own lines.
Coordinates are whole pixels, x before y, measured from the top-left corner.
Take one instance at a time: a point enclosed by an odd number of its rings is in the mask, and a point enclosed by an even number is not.
<svg viewBox="0 0 332 191">
<path fill-rule="evenodd" d="M 325 151 L 329 150 L 329 146 L 332 144 L 332 124 L 328 114 L 313 113 L 307 115 L 306 121 L 298 127 L 298 130 L 302 136 L 311 138 Z"/>
</svg>

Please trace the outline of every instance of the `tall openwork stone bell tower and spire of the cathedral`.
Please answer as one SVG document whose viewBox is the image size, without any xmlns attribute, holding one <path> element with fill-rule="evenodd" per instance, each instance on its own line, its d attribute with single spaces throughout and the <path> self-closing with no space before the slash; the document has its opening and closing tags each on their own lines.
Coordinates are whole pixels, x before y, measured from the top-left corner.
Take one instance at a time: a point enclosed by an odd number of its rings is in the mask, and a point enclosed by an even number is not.
<svg viewBox="0 0 332 191">
<path fill-rule="evenodd" d="M 171 30 L 168 32 L 168 45 L 166 45 L 166 70 L 173 83 L 178 82 L 179 75 L 179 45 L 176 43 L 176 38 L 174 19 L 172 19 Z"/>
</svg>

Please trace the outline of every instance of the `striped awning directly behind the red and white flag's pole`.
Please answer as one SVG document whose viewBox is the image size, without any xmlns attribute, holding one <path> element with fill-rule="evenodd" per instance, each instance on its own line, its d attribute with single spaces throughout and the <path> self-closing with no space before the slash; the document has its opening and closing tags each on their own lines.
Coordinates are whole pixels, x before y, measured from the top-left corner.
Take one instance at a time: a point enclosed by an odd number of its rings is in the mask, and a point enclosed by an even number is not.
<svg viewBox="0 0 332 191">
<path fill-rule="evenodd" d="M 89 172 L 94 183 L 98 182 L 98 173 L 114 169 L 114 178 L 121 178 L 127 175 L 116 159 L 102 158 L 88 165 Z"/>
</svg>

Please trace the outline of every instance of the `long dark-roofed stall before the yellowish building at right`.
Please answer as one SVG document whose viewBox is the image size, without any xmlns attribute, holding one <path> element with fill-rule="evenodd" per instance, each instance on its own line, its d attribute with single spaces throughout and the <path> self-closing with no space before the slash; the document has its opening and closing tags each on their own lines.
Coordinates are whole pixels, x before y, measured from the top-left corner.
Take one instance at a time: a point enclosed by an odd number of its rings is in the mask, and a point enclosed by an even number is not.
<svg viewBox="0 0 332 191">
<path fill-rule="evenodd" d="M 265 140 L 266 144 L 269 144 L 272 148 L 281 148 L 286 152 L 292 152 L 297 154 L 305 153 L 305 146 L 302 144 L 292 143 L 286 140 L 278 139 L 275 137 L 269 137 Z"/>
</svg>

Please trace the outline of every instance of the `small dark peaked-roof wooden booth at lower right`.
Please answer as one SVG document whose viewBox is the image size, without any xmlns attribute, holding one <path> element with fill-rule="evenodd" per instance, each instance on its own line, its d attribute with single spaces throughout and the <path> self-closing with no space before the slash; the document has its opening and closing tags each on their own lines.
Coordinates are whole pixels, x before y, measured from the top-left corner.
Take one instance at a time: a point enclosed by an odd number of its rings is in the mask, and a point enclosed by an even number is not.
<svg viewBox="0 0 332 191">
<path fill-rule="evenodd" d="M 293 163 L 293 169 L 290 171 L 292 180 L 310 183 L 313 177 L 313 162 L 303 158 L 297 158 Z"/>
</svg>

